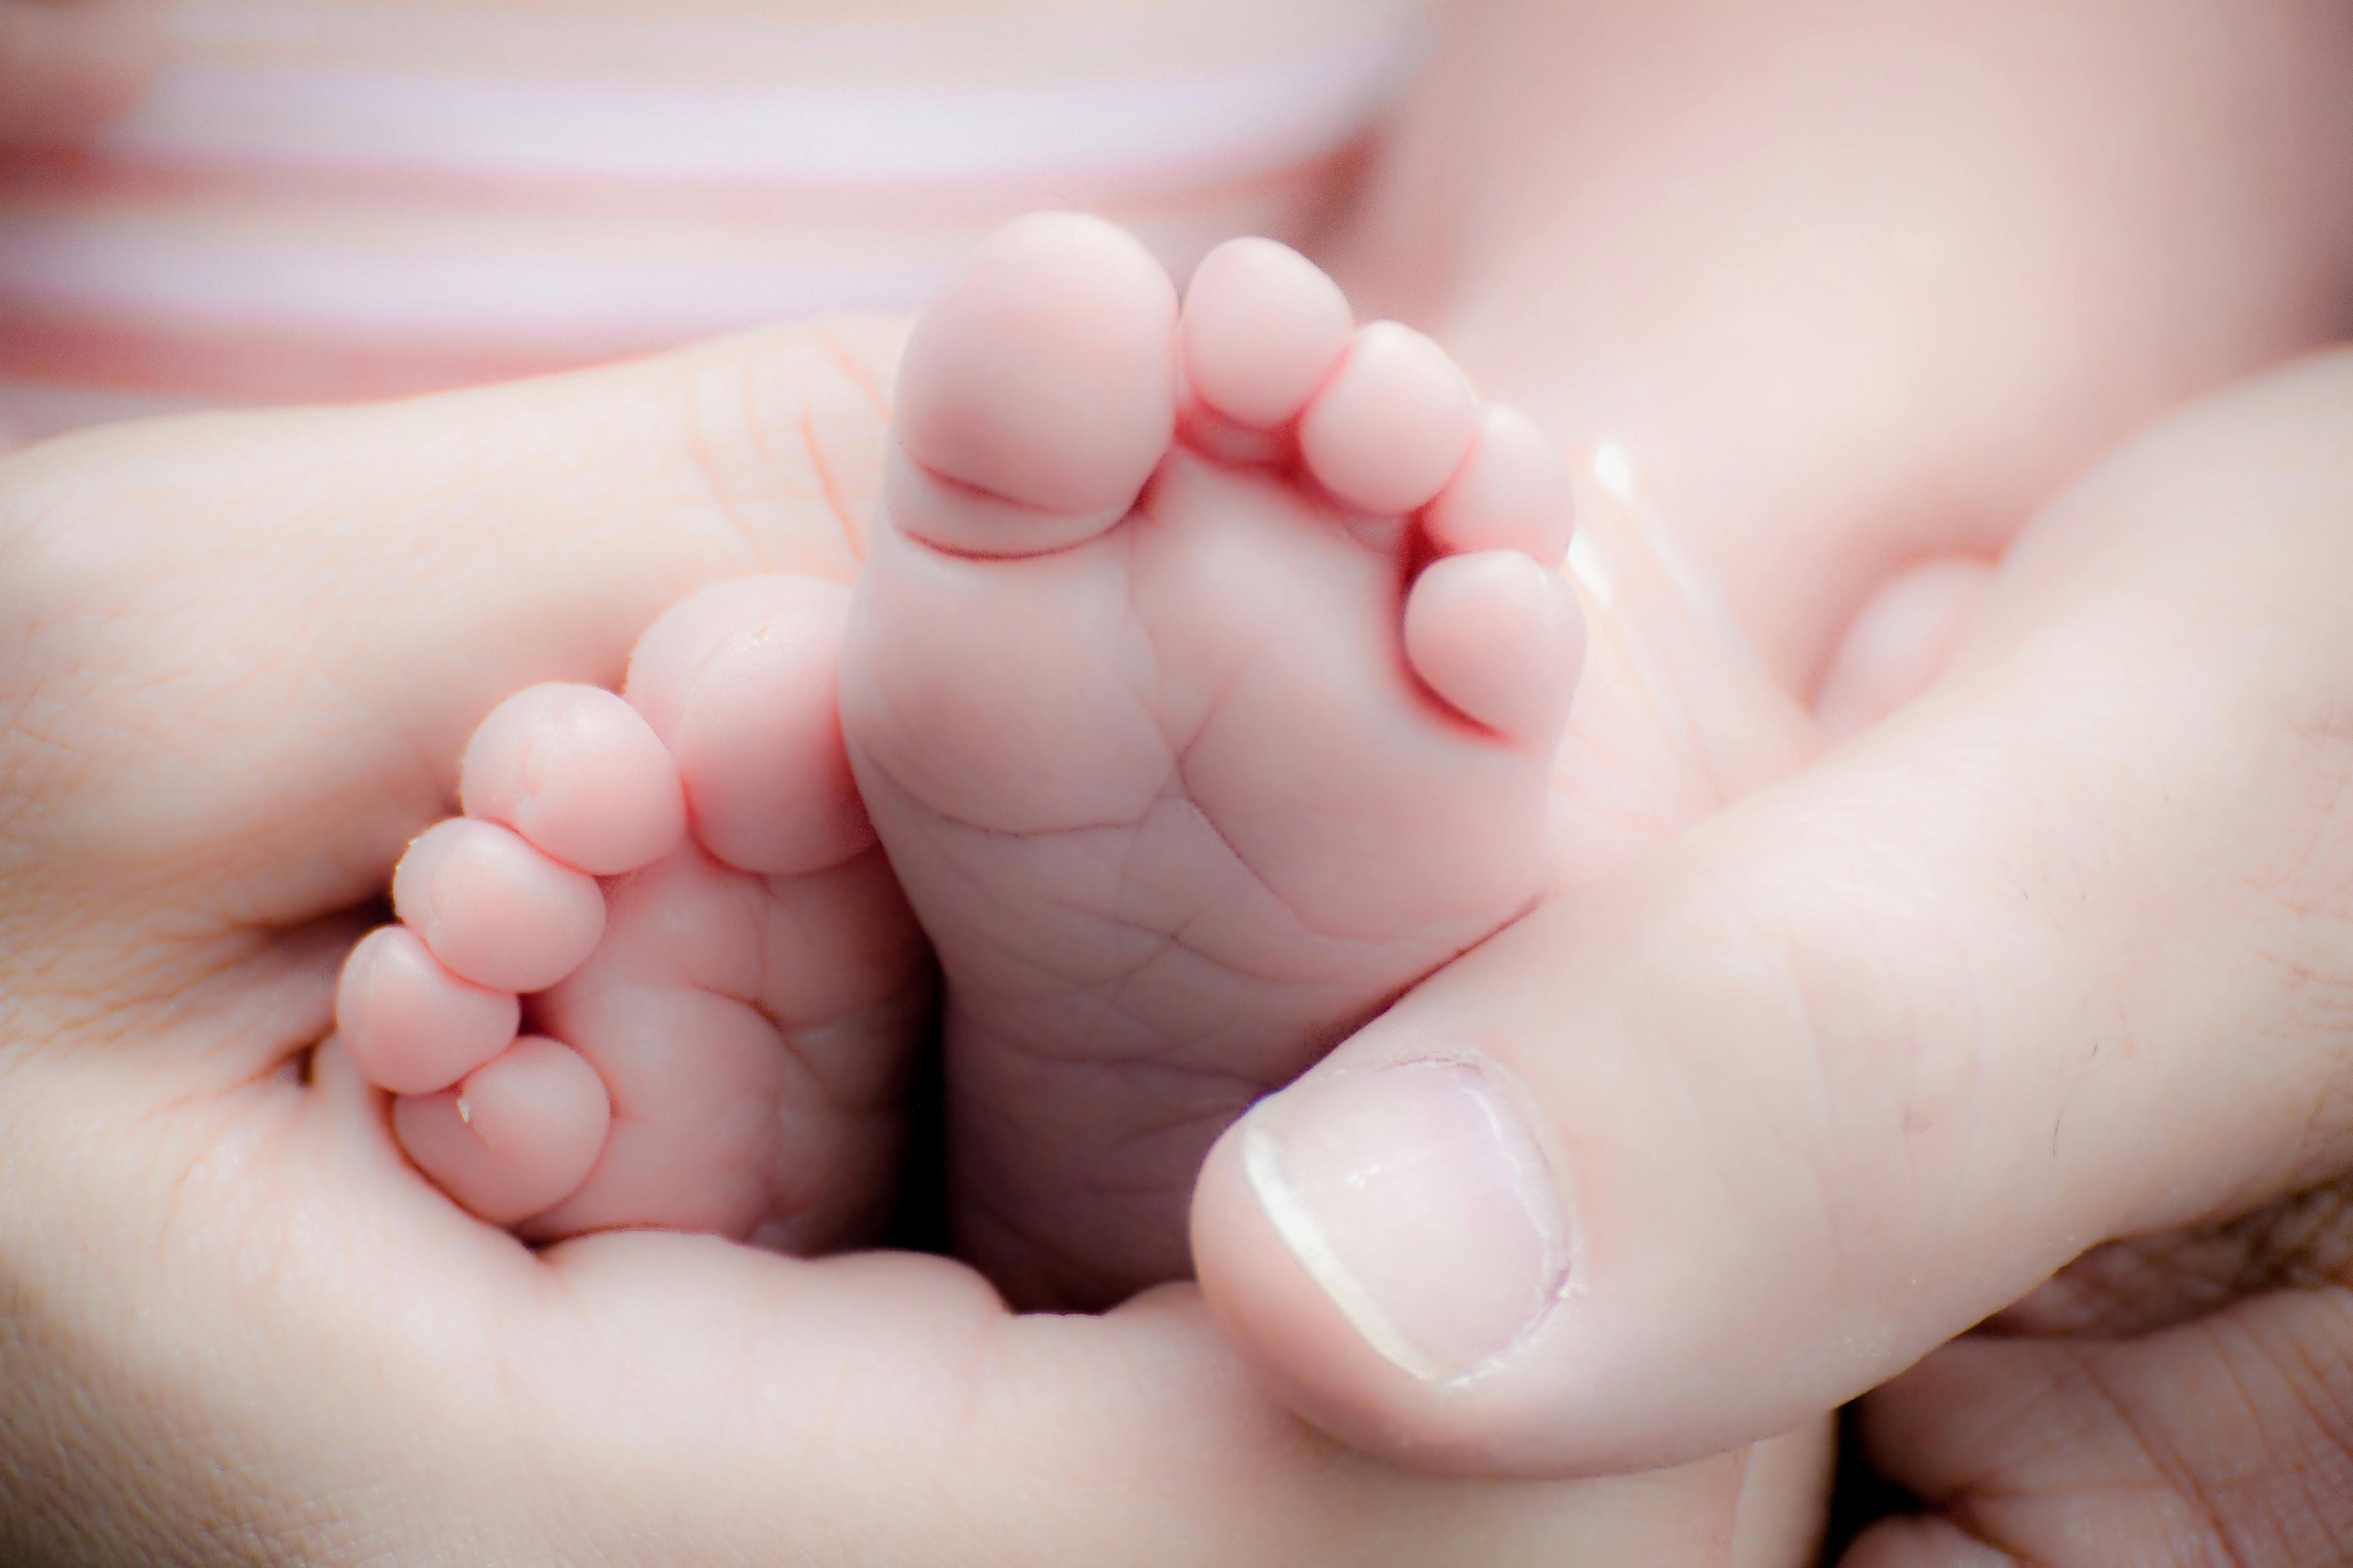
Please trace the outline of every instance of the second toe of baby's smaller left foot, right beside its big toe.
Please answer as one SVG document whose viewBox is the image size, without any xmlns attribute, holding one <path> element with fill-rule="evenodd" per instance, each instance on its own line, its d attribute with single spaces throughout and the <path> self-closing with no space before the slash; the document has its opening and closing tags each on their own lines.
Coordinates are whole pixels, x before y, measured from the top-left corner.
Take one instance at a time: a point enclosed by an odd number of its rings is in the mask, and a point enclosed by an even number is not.
<svg viewBox="0 0 2353 1568">
<path fill-rule="evenodd" d="M 638 712 L 598 686 L 544 684 L 499 703 L 459 762 L 466 816 L 504 823 L 534 849 L 619 877 L 678 846 L 678 766 Z"/>
</svg>

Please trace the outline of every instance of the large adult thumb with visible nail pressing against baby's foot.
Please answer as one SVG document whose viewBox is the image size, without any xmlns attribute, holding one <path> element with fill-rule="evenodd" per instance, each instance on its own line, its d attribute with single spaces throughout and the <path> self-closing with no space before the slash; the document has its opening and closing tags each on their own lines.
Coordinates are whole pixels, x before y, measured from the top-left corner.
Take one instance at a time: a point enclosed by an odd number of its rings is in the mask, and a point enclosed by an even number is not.
<svg viewBox="0 0 2353 1568">
<path fill-rule="evenodd" d="M 1633 1469 L 2344 1168 L 2348 517 L 2353 355 L 2118 454 L 1927 698 L 1231 1128 L 1228 1335 L 1391 1458 Z"/>
</svg>

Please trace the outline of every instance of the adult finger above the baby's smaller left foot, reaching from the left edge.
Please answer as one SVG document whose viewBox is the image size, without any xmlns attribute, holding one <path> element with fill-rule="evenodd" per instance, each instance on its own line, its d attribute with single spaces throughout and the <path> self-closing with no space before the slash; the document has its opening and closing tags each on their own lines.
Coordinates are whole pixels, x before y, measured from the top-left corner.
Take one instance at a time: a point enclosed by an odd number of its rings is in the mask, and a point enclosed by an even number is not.
<svg viewBox="0 0 2353 1568">
<path fill-rule="evenodd" d="M 847 581 L 896 341 L 793 327 L 9 458 L 0 783 L 42 809 L 0 832 L 14 907 L 45 912 L 26 940 L 108 994 L 99 969 L 148 954 L 78 940 L 80 919 L 212 940 L 376 898 L 504 696 L 619 686 L 647 623 L 715 578 Z"/>
</svg>

